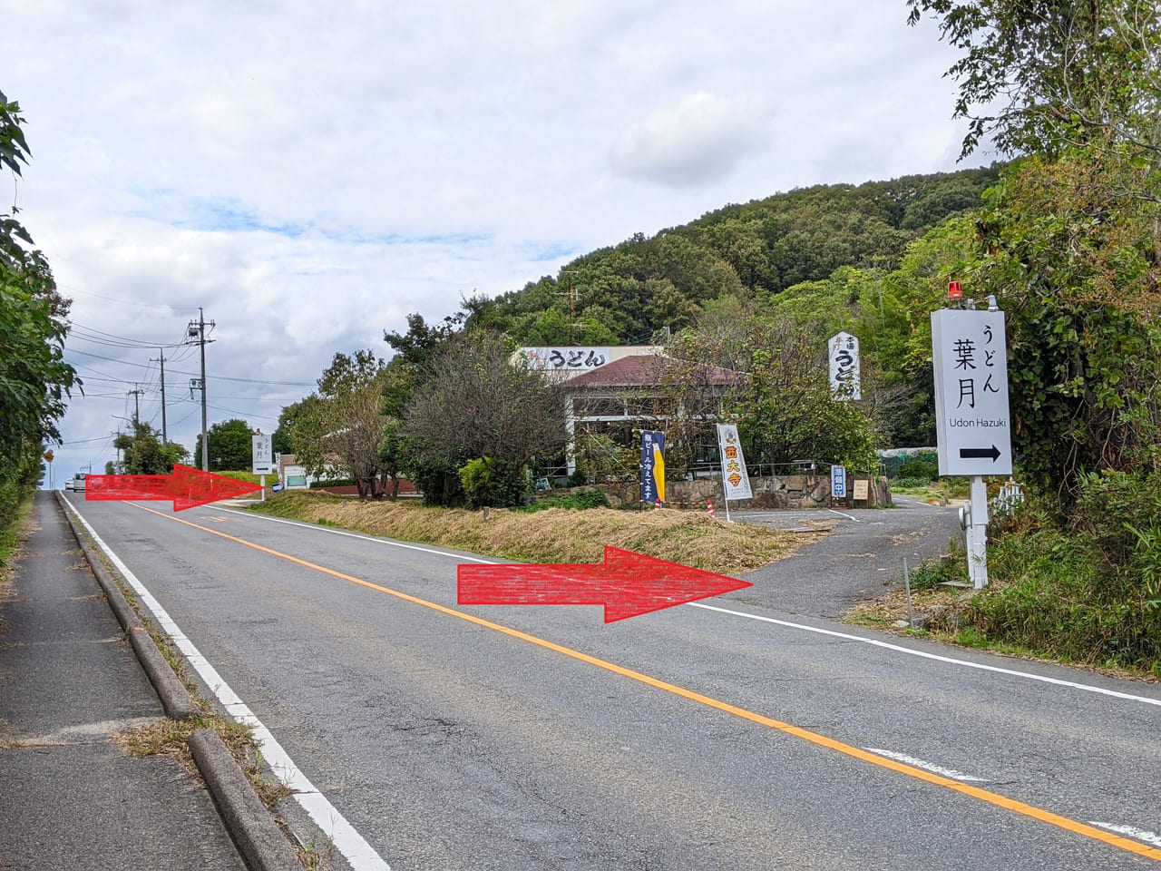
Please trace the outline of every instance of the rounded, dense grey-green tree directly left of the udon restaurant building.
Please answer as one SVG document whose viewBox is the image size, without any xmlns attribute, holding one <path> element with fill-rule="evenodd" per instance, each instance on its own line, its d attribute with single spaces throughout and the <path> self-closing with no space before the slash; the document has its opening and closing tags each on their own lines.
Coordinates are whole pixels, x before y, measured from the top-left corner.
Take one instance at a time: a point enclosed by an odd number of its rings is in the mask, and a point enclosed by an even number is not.
<svg viewBox="0 0 1161 871">
<path fill-rule="evenodd" d="M 511 358 L 502 337 L 473 332 L 432 360 L 402 427 L 408 462 L 428 502 L 460 499 L 460 468 L 481 460 L 496 482 L 495 501 L 515 504 L 529 462 L 563 449 L 557 388 Z"/>
</svg>

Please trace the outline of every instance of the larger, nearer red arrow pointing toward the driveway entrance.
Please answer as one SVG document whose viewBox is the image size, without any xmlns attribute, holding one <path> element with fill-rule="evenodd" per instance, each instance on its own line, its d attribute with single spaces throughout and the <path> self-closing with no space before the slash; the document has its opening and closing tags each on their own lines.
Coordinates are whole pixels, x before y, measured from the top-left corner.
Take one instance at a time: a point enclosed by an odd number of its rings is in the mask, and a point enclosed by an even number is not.
<svg viewBox="0 0 1161 871">
<path fill-rule="evenodd" d="M 605 622 L 753 586 L 618 547 L 598 564 L 460 564 L 456 574 L 461 605 L 604 605 Z"/>
</svg>

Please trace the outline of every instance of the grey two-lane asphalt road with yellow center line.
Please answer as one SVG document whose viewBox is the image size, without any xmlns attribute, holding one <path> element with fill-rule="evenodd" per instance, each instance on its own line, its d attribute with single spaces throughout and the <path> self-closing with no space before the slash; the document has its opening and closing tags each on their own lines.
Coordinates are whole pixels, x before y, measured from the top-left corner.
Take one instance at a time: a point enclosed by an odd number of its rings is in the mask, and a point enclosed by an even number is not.
<svg viewBox="0 0 1161 871">
<path fill-rule="evenodd" d="M 374 851 L 358 868 L 1161 862 L 1155 685 L 779 611 L 760 583 L 608 625 L 461 607 L 470 555 L 71 499 Z"/>
</svg>

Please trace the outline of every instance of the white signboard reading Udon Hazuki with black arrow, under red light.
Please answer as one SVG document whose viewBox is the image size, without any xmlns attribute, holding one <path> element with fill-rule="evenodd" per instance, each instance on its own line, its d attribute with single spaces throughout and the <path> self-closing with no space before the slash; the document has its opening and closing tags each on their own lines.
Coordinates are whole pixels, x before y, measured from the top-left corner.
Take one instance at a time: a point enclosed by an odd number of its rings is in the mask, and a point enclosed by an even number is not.
<svg viewBox="0 0 1161 871">
<path fill-rule="evenodd" d="M 1010 475 L 1004 312 L 931 312 L 940 475 Z"/>
</svg>

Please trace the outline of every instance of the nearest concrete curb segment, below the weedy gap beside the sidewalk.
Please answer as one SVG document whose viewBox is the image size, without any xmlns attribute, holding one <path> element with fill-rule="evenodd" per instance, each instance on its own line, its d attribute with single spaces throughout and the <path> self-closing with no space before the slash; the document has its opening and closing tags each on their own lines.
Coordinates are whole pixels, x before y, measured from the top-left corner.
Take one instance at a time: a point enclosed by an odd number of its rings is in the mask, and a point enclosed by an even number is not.
<svg viewBox="0 0 1161 871">
<path fill-rule="evenodd" d="M 189 750 L 251 871 L 301 869 L 290 842 L 274 823 L 222 737 L 214 729 L 195 729 L 189 737 Z"/>
</svg>

